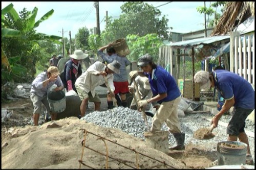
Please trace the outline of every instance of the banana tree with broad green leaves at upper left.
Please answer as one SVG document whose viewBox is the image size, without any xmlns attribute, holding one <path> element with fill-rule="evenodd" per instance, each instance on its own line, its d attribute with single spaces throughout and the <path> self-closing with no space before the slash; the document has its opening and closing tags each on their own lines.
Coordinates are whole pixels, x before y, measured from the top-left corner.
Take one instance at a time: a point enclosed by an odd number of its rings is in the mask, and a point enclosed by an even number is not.
<svg viewBox="0 0 256 170">
<path fill-rule="evenodd" d="M 18 65 L 17 62 L 20 61 L 20 59 L 26 58 L 28 54 L 31 54 L 29 52 L 26 53 L 26 50 L 23 52 L 17 52 L 17 54 L 26 54 L 24 56 L 16 56 L 12 55 L 13 50 L 17 49 L 10 49 L 7 46 L 5 46 L 5 41 L 10 39 L 13 39 L 15 41 L 16 39 L 19 41 L 23 41 L 30 46 L 30 51 L 34 49 L 34 46 L 38 46 L 39 40 L 50 40 L 51 42 L 61 44 L 58 40 L 62 37 L 55 36 L 55 35 L 46 35 L 44 33 L 35 33 L 34 29 L 39 26 L 39 24 L 48 19 L 54 12 L 54 10 L 50 10 L 47 12 L 44 16 L 42 16 L 39 20 L 35 21 L 36 15 L 37 15 L 38 9 L 35 7 L 32 12 L 28 12 L 29 15 L 25 16 L 25 18 L 22 18 L 18 15 L 16 10 L 13 8 L 13 4 L 8 5 L 4 9 L 2 9 L 2 65 L 6 66 L 9 74 L 12 72 L 13 74 L 19 74 L 21 72 L 26 72 L 26 67 L 22 65 Z M 9 20 L 8 20 L 9 19 Z M 23 24 L 23 27 L 17 27 L 20 25 L 20 23 Z M 6 44 L 8 44 L 6 42 Z M 4 45 L 4 47 L 3 47 Z M 9 53 L 5 53 L 5 51 L 8 51 Z M 28 51 L 28 50 L 27 50 Z M 12 56 L 12 57 L 8 57 Z M 3 62 L 4 61 L 4 62 Z M 29 62 L 25 62 L 25 66 L 27 66 Z M 28 67 L 28 66 L 27 66 Z M 13 70 L 13 69 L 15 70 Z M 19 70 L 19 71 L 16 71 Z M 2 69 L 3 71 L 3 69 Z M 2 75 L 3 76 L 3 75 Z"/>
</svg>

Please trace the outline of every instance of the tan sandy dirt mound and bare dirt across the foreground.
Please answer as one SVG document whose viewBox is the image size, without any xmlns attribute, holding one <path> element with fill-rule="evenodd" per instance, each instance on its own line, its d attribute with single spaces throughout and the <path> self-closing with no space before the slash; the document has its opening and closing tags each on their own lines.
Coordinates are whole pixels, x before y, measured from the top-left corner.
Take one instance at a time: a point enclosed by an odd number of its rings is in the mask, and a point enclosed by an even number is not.
<svg viewBox="0 0 256 170">
<path fill-rule="evenodd" d="M 12 124 L 15 119 L 31 118 L 33 113 L 32 102 L 30 99 L 19 99 L 2 104 L 2 108 L 17 107 L 24 104 L 27 104 L 26 109 L 14 110 L 13 116 L 11 116 L 8 124 L 2 124 L 2 147 L 3 144 L 8 143 L 7 146 L 2 148 L 2 168 L 78 168 L 83 136 L 79 131 L 80 128 L 115 140 L 126 147 L 138 149 L 138 151 L 141 151 L 145 155 L 161 159 L 166 163 L 168 162 L 167 164 L 172 165 L 174 168 L 202 169 L 217 159 L 216 152 L 207 151 L 202 145 L 194 144 L 187 144 L 184 151 L 169 151 L 168 155 L 166 155 L 147 147 L 145 142 L 139 138 L 116 129 L 103 128 L 91 123 L 80 122 L 76 117 L 57 120 L 55 124 L 54 122 L 45 123 L 40 127 L 30 125 L 26 125 L 25 127 L 16 126 L 16 124 Z M 106 106 L 103 104 L 102 107 L 104 110 Z M 105 153 L 104 145 L 100 147 L 99 141 L 96 139 L 95 137 L 88 137 L 88 146 L 95 147 L 98 151 L 102 150 L 102 153 Z M 102 141 L 100 142 L 103 144 Z M 109 145 L 108 149 L 110 156 L 113 154 L 113 157 L 125 160 L 131 166 L 136 165 L 134 152 L 124 150 L 117 145 Z M 104 168 L 104 156 L 99 156 L 97 153 L 88 149 L 85 150 L 85 153 L 83 160 L 87 160 L 86 162 L 89 166 Z M 127 158 L 131 159 L 127 160 Z M 170 168 L 143 156 L 139 156 L 139 159 L 141 159 L 139 160 L 140 168 Z M 88 167 L 82 165 L 82 168 Z M 109 158 L 109 168 L 131 167 Z"/>
</svg>

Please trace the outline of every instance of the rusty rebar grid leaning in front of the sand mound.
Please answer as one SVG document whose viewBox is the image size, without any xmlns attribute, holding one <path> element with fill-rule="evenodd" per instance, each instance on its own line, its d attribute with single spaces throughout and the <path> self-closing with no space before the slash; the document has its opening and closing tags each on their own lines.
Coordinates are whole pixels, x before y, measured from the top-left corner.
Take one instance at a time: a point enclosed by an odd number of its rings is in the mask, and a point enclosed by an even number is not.
<svg viewBox="0 0 256 170">
<path fill-rule="evenodd" d="M 160 163 L 163 163 L 164 166 L 168 166 L 168 167 L 170 167 L 170 168 L 175 168 L 175 167 L 173 167 L 173 166 L 171 166 L 171 165 L 168 165 L 165 161 L 160 161 L 160 160 L 155 159 L 155 158 L 153 158 L 153 157 L 147 156 L 147 155 L 145 155 L 145 154 L 142 154 L 142 153 L 136 151 L 135 149 L 127 148 L 127 147 L 125 147 L 125 146 L 122 145 L 122 144 L 119 144 L 119 143 L 117 143 L 117 142 L 115 142 L 115 141 L 112 141 L 112 140 L 110 140 L 110 139 L 106 139 L 106 138 L 104 138 L 104 137 L 102 137 L 102 136 L 99 136 L 99 135 L 97 135 L 97 134 L 94 134 L 94 133 L 92 133 L 92 132 L 89 132 L 89 131 L 87 131 L 86 129 L 80 129 L 80 130 L 83 130 L 83 132 L 84 132 L 84 139 L 83 139 L 83 141 L 82 141 L 82 154 L 81 154 L 81 158 L 80 158 L 80 160 L 78 161 L 78 162 L 80 163 L 80 164 L 79 164 L 79 169 L 81 168 L 81 164 L 84 165 L 84 166 L 88 166 L 88 167 L 90 167 L 90 168 L 93 168 L 93 167 L 91 167 L 91 166 L 89 166 L 89 165 L 83 163 L 83 161 L 82 161 L 82 156 L 83 156 L 83 153 L 84 153 L 84 148 L 88 148 L 89 150 L 92 150 L 92 151 L 94 151 L 94 152 L 96 152 L 96 153 L 98 153 L 98 154 L 100 154 L 100 155 L 106 156 L 106 164 L 105 164 L 106 169 L 108 169 L 108 161 L 109 161 L 109 158 L 114 159 L 114 160 L 116 160 L 116 161 L 118 161 L 118 162 L 120 162 L 120 163 L 123 163 L 124 165 L 129 166 L 129 167 L 131 167 L 131 168 L 139 169 L 138 154 L 140 154 L 140 155 L 142 155 L 142 156 L 145 156 L 145 157 L 147 157 L 147 158 L 153 159 L 153 160 L 155 160 L 155 161 L 158 161 L 158 162 L 160 162 Z M 94 135 L 94 136 L 97 136 L 98 138 L 97 138 L 96 140 L 101 139 L 101 140 L 104 142 L 105 147 L 106 147 L 106 154 L 103 154 L 103 153 L 101 153 L 101 152 L 98 152 L 98 151 L 96 151 L 96 150 L 94 150 L 94 149 L 89 148 L 89 147 L 86 146 L 86 135 L 87 135 L 87 134 L 92 134 L 92 135 Z M 110 141 L 110 142 L 112 142 L 112 143 L 114 143 L 114 144 L 119 145 L 120 147 L 123 147 L 123 148 L 125 148 L 125 149 L 127 149 L 127 150 L 131 150 L 131 151 L 135 152 L 135 156 L 136 156 L 136 167 L 131 166 L 131 165 L 129 165 L 129 164 L 126 164 L 126 163 L 123 162 L 122 160 L 118 160 L 118 159 L 116 159 L 116 158 L 113 158 L 113 157 L 109 156 L 108 145 L 106 144 L 105 140 L 108 140 L 108 141 Z M 93 169 L 95 169 L 95 168 L 93 168 Z"/>
</svg>

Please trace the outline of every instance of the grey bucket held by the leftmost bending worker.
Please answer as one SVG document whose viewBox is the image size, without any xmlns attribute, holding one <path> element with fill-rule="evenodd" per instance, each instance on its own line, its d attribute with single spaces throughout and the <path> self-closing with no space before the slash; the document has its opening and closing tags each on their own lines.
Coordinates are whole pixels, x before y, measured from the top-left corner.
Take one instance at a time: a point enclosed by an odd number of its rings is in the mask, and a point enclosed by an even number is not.
<svg viewBox="0 0 256 170">
<path fill-rule="evenodd" d="M 60 113 L 66 109 L 66 95 L 62 90 L 49 91 L 47 94 L 47 100 L 52 112 Z"/>
</svg>

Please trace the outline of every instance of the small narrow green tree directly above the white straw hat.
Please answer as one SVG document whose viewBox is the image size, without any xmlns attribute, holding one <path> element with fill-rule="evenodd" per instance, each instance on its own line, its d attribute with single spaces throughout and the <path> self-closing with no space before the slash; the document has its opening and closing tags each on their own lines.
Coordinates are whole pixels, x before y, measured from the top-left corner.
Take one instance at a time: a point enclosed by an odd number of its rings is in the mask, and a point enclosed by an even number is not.
<svg viewBox="0 0 256 170">
<path fill-rule="evenodd" d="M 90 31 L 87 27 L 82 27 L 78 30 L 76 34 L 76 47 L 82 51 L 89 50 L 88 38 L 90 36 Z"/>
</svg>

